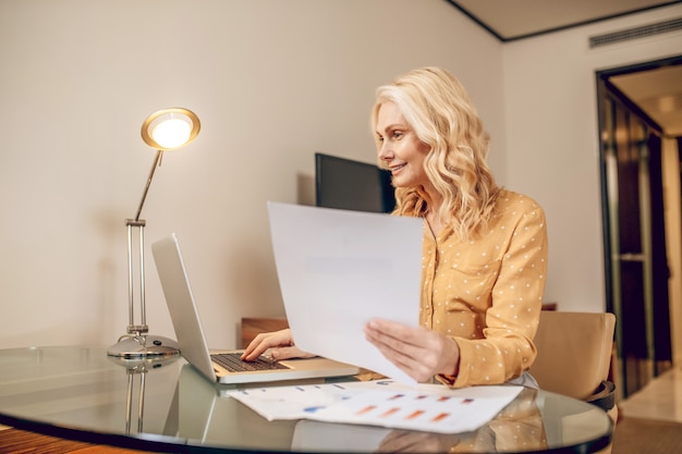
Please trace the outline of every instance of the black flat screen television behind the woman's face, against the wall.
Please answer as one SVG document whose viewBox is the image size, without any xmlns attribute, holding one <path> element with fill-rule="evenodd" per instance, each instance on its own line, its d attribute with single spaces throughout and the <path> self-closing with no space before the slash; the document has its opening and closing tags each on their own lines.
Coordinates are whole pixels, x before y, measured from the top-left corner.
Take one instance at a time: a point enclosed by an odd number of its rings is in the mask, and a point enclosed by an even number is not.
<svg viewBox="0 0 682 454">
<path fill-rule="evenodd" d="M 391 174 L 376 164 L 315 154 L 315 199 L 318 207 L 391 212 L 395 196 Z"/>
</svg>

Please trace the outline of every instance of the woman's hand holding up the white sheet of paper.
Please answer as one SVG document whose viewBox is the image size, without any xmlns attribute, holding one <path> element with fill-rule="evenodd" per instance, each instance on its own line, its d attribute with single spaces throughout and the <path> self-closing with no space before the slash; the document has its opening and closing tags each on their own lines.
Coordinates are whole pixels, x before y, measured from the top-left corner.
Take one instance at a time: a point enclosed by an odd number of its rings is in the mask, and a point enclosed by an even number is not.
<svg viewBox="0 0 682 454">
<path fill-rule="evenodd" d="M 423 327 L 374 319 L 365 326 L 365 338 L 417 382 L 438 373 L 456 376 L 460 348 L 451 338 Z"/>
</svg>

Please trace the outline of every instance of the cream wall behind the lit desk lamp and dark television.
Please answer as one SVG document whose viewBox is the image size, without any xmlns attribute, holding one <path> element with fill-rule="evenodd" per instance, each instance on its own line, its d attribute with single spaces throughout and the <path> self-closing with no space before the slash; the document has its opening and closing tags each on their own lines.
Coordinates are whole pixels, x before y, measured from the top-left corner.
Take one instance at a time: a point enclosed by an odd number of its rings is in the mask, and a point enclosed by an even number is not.
<svg viewBox="0 0 682 454">
<path fill-rule="evenodd" d="M 502 46 L 446 1 L 0 0 L 0 347 L 124 333 L 139 127 L 172 106 L 203 128 L 157 171 L 147 249 L 178 233 L 214 346 L 283 315 L 266 201 L 310 203 L 315 151 L 373 162 L 375 88 L 426 64 L 468 88 L 503 181 Z M 174 338 L 150 255 L 147 278 Z"/>
</svg>

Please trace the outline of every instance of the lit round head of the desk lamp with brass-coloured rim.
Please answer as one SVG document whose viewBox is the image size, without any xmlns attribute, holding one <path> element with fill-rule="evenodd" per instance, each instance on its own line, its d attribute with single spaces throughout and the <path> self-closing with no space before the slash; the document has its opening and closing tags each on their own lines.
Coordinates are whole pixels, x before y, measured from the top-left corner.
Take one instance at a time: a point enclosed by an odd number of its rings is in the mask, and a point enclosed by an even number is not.
<svg viewBox="0 0 682 454">
<path fill-rule="evenodd" d="M 161 109 L 145 119 L 142 138 L 157 150 L 173 150 L 192 142 L 200 127 L 199 118 L 188 109 Z"/>
</svg>

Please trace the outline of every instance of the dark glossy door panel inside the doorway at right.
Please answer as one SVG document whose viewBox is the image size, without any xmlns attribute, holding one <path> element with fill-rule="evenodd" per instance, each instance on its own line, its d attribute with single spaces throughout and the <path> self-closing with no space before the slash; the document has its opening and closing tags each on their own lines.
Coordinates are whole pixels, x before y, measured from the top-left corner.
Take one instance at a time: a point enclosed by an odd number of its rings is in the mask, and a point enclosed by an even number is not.
<svg viewBox="0 0 682 454">
<path fill-rule="evenodd" d="M 670 367 L 661 132 L 599 78 L 607 310 L 616 314 L 620 393 Z"/>
</svg>

